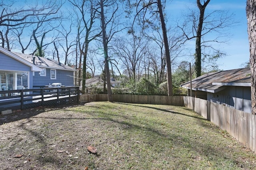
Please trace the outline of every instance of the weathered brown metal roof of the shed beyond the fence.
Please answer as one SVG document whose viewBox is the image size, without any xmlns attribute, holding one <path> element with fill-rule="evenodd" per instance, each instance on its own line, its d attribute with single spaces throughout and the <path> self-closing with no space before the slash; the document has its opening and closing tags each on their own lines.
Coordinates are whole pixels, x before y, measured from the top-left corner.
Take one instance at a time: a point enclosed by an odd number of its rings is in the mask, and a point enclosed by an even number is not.
<svg viewBox="0 0 256 170">
<path fill-rule="evenodd" d="M 204 74 L 192 80 L 192 90 L 218 92 L 225 86 L 250 86 L 250 68 L 239 68 Z M 190 81 L 181 84 L 190 89 Z"/>
</svg>

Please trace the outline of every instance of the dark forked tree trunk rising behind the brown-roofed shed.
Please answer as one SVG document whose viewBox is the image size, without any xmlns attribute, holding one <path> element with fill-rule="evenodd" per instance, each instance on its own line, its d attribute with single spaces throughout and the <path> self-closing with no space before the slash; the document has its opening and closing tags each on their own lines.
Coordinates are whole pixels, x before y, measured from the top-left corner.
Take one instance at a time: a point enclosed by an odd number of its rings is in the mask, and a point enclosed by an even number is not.
<svg viewBox="0 0 256 170">
<path fill-rule="evenodd" d="M 196 77 L 201 76 L 201 35 L 202 35 L 202 27 L 204 23 L 204 10 L 210 0 L 204 1 L 204 5 L 200 3 L 200 0 L 196 0 L 197 6 L 200 11 L 198 27 L 196 30 L 196 53 L 195 53 L 195 73 Z"/>
</svg>

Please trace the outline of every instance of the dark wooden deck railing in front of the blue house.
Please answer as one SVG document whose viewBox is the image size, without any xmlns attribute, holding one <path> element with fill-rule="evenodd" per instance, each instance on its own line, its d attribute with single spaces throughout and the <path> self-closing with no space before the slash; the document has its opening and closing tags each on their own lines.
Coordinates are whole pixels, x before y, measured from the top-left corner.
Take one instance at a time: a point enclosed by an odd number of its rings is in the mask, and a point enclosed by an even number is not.
<svg viewBox="0 0 256 170">
<path fill-rule="evenodd" d="M 0 91 L 0 111 L 79 103 L 79 87 Z"/>
</svg>

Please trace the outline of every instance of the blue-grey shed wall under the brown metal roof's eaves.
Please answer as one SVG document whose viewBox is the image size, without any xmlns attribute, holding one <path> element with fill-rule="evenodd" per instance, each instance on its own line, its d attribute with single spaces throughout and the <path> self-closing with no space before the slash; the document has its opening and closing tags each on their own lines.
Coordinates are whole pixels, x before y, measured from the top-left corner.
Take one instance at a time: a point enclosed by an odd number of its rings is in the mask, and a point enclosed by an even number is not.
<svg viewBox="0 0 256 170">
<path fill-rule="evenodd" d="M 217 93 L 207 93 L 207 100 L 228 107 L 252 113 L 251 88 L 242 86 L 227 86 Z"/>
</svg>

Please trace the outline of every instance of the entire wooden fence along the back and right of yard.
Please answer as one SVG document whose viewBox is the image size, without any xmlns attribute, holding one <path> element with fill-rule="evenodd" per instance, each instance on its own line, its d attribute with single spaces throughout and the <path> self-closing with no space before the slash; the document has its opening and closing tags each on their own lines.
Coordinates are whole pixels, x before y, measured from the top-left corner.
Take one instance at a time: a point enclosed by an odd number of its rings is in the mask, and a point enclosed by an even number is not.
<svg viewBox="0 0 256 170">
<path fill-rule="evenodd" d="M 107 94 L 81 96 L 81 102 L 108 101 Z M 137 104 L 163 104 L 184 106 L 194 110 L 205 119 L 240 141 L 246 148 L 256 152 L 256 116 L 224 105 L 189 96 L 141 96 L 113 94 L 114 102 Z M 92 100 L 93 98 L 93 100 Z"/>
</svg>

